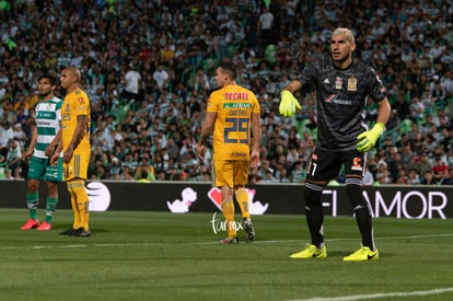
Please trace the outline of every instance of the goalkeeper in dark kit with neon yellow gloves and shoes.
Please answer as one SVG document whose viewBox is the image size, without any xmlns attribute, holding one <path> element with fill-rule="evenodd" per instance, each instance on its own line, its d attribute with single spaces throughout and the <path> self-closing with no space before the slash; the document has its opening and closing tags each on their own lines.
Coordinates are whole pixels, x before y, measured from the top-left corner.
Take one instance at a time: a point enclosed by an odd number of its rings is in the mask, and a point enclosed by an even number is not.
<svg viewBox="0 0 453 301">
<path fill-rule="evenodd" d="M 280 114 L 292 116 L 300 108 L 292 93 L 302 85 L 316 88 L 317 141 L 306 171 L 304 189 L 306 222 L 311 244 L 292 258 L 325 258 L 324 212 L 321 202 L 323 189 L 338 176 L 345 166 L 346 192 L 362 236 L 361 247 L 344 257 L 346 262 L 378 261 L 374 245 L 372 215 L 362 195 L 362 176 L 365 155 L 378 142 L 388 120 L 391 106 L 385 88 L 374 70 L 352 58 L 355 36 L 348 28 L 337 28 L 332 34 L 330 56 L 313 61 L 300 77 L 282 89 Z M 368 129 L 367 97 L 379 104 L 375 125 Z"/>
</svg>

